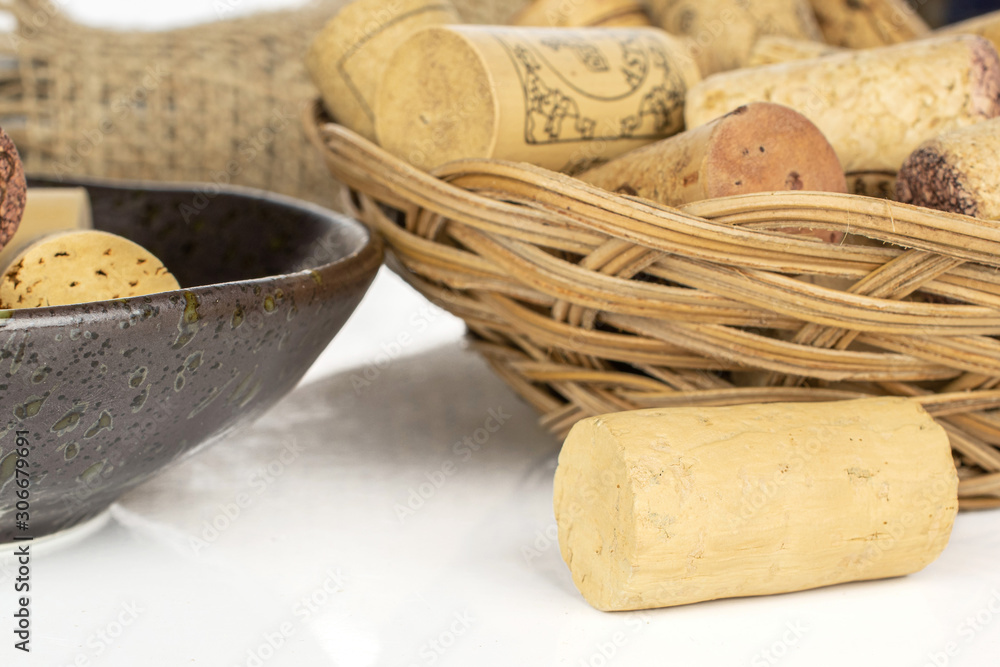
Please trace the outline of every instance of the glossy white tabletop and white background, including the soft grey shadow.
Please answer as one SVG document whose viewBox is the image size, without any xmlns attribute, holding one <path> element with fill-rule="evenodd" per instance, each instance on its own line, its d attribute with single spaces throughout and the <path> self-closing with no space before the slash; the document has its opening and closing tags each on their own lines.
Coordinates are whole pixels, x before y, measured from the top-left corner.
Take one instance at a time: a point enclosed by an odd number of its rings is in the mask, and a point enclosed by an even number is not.
<svg viewBox="0 0 1000 667">
<path fill-rule="evenodd" d="M 220 12 L 215 0 L 63 4 L 90 23 L 140 28 Z M 96 531 L 39 545 L 30 656 L 11 648 L 0 561 L 0 665 L 1000 663 L 1000 512 L 960 515 L 944 555 L 901 579 L 591 609 L 552 540 L 559 443 L 461 336 L 383 271 L 252 429 L 129 494 Z M 456 450 L 491 410 L 510 418 L 479 451 Z M 397 505 L 428 489 L 401 519 Z"/>
</svg>

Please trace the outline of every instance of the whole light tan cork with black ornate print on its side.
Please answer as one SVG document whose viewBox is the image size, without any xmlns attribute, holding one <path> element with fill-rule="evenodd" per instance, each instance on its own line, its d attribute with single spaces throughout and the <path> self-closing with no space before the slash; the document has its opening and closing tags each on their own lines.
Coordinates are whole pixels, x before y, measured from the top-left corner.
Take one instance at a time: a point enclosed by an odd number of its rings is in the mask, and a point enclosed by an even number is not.
<svg viewBox="0 0 1000 667">
<path fill-rule="evenodd" d="M 699 78 L 656 28 L 425 28 L 386 69 L 376 128 L 422 169 L 495 158 L 573 172 L 682 130 Z"/>
</svg>

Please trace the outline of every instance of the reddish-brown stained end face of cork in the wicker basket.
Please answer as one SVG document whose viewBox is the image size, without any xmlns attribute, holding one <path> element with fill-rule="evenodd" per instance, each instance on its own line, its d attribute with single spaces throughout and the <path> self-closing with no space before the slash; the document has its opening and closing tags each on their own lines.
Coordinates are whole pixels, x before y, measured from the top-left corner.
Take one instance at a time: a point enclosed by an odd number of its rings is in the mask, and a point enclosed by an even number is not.
<svg viewBox="0 0 1000 667">
<path fill-rule="evenodd" d="M 774 190 L 847 192 L 837 154 L 808 118 L 754 102 L 720 119 L 705 160 L 709 197 Z"/>
</svg>

